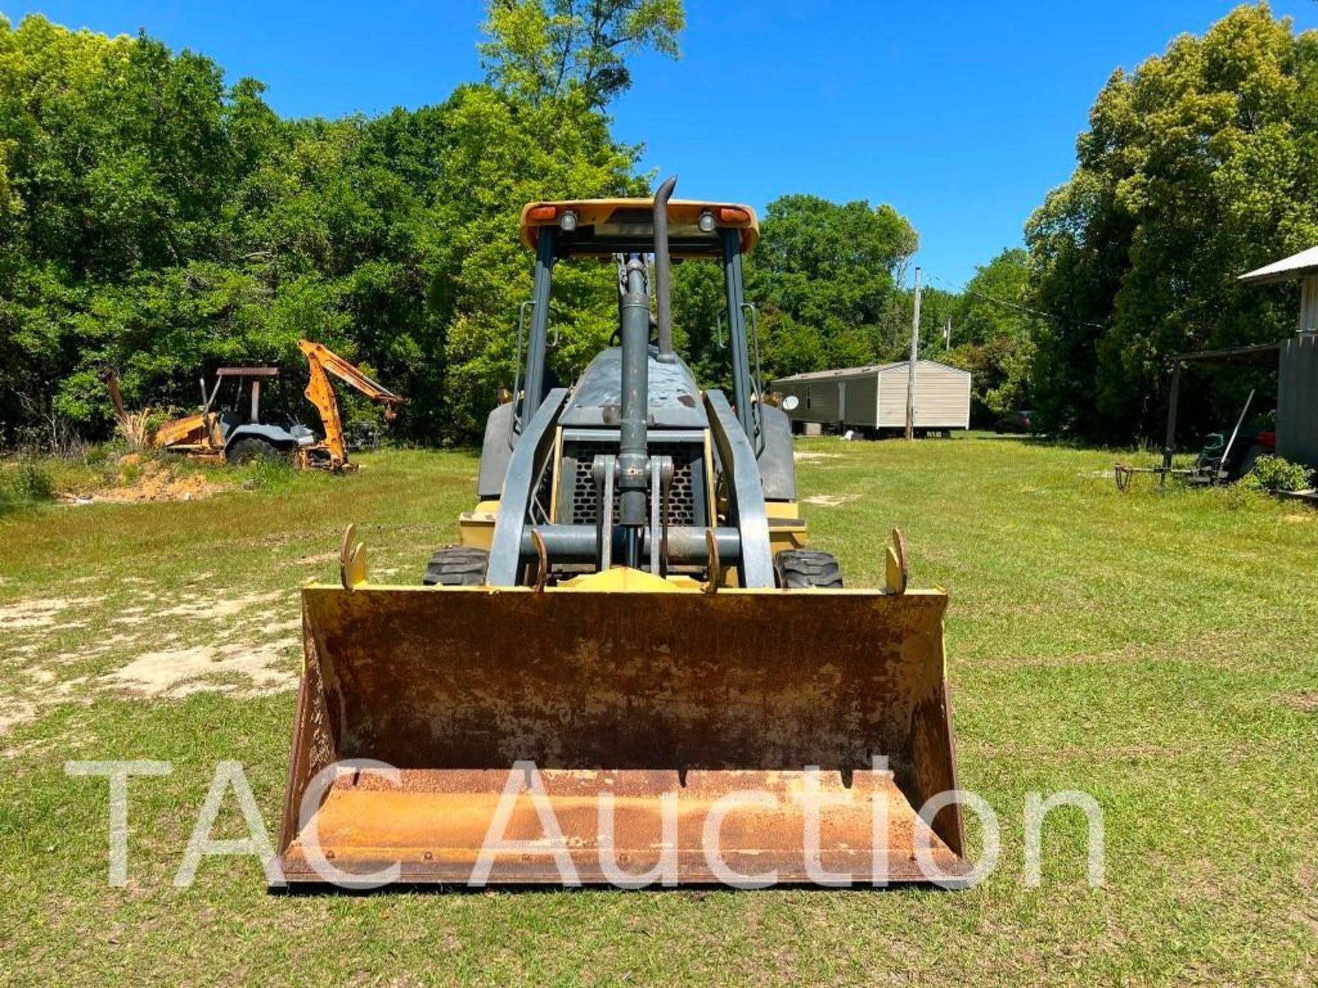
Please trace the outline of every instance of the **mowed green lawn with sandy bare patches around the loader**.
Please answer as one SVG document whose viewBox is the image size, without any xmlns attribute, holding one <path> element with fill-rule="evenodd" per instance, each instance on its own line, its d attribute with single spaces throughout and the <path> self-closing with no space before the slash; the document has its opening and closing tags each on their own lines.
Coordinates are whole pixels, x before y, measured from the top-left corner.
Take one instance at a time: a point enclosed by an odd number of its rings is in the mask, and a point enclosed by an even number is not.
<svg viewBox="0 0 1318 988">
<path fill-rule="evenodd" d="M 385 452 L 351 477 L 0 518 L 0 979 L 1314 983 L 1318 511 L 1147 478 L 1122 495 L 1111 452 L 1016 439 L 799 456 L 851 585 L 878 582 L 896 524 L 913 582 L 952 591 L 961 784 L 1002 826 L 981 887 L 270 896 L 253 859 L 212 858 L 174 888 L 217 761 L 244 765 L 273 837 L 297 589 L 335 574 L 343 527 L 402 582 L 456 537 L 476 457 Z M 107 884 L 107 782 L 70 759 L 174 764 L 129 785 L 127 888 Z M 1102 888 L 1070 810 L 1027 887 L 1025 796 L 1064 789 L 1104 810 Z M 244 834 L 235 800 L 220 821 Z"/>
</svg>

